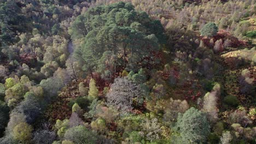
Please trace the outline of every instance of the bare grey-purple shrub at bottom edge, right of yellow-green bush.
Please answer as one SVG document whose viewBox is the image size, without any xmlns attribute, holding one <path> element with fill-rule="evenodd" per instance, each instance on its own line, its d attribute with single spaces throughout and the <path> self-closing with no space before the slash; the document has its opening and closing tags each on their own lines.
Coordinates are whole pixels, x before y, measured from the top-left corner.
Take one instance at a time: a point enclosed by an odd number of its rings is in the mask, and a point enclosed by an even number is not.
<svg viewBox="0 0 256 144">
<path fill-rule="evenodd" d="M 33 142 L 35 144 L 51 144 L 55 138 L 56 135 L 53 131 L 39 130 L 34 133 Z"/>
</svg>

